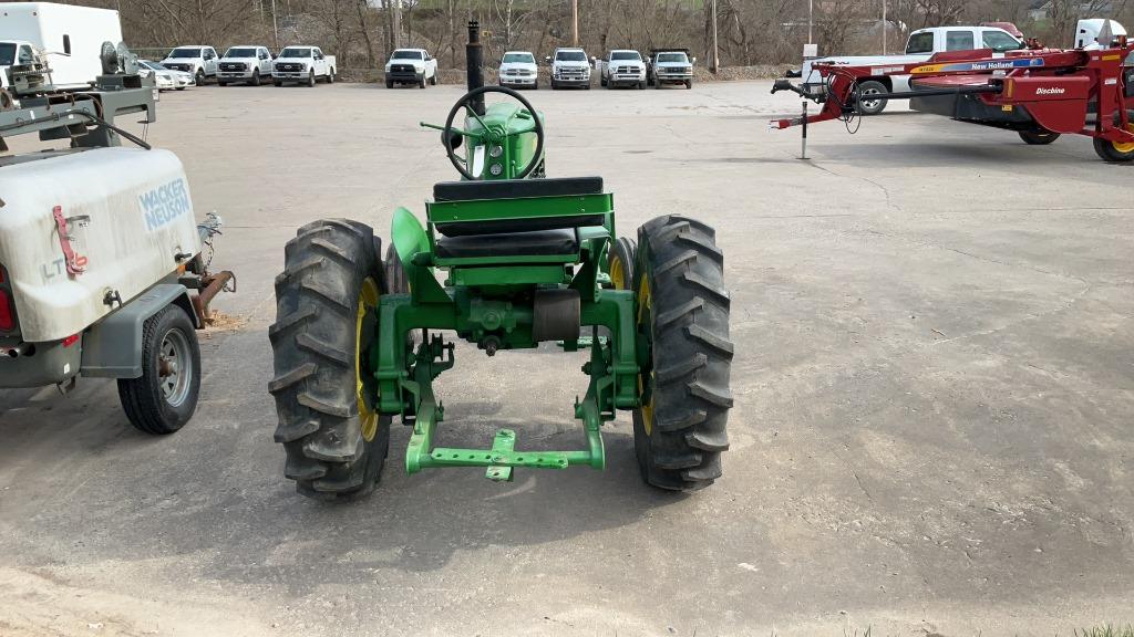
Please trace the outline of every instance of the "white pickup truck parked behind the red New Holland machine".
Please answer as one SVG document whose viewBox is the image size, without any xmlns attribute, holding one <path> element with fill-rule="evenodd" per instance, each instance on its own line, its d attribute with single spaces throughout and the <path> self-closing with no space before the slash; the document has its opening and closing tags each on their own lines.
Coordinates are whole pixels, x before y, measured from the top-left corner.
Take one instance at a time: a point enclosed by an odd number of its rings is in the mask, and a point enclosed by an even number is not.
<svg viewBox="0 0 1134 637">
<path fill-rule="evenodd" d="M 815 62 L 847 66 L 908 65 L 924 62 L 934 53 L 942 51 L 972 51 L 974 49 L 991 49 L 993 54 L 1004 56 L 1005 51 L 1023 49 L 1024 42 L 1007 31 L 996 26 L 937 26 L 921 28 L 909 34 L 906 41 L 905 54 L 899 56 L 850 56 L 813 58 L 804 60 L 799 69 L 799 82 L 804 91 L 823 93 L 823 78 L 813 73 L 811 65 Z M 908 75 L 889 75 L 871 79 L 858 85 L 863 95 L 878 93 L 904 93 L 909 91 Z M 877 114 L 886 109 L 886 100 L 863 100 L 863 114 Z"/>
</svg>

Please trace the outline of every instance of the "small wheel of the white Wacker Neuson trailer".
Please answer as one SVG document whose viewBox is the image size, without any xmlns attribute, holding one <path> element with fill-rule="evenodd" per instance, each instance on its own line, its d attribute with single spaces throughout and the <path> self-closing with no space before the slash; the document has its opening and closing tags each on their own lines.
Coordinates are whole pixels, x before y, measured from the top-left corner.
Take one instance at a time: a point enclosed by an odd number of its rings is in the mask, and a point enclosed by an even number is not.
<svg viewBox="0 0 1134 637">
<path fill-rule="evenodd" d="M 118 399 L 139 431 L 169 434 L 185 426 L 201 392 L 201 348 L 189 315 L 167 305 L 142 329 L 142 375 L 118 381 Z"/>
</svg>

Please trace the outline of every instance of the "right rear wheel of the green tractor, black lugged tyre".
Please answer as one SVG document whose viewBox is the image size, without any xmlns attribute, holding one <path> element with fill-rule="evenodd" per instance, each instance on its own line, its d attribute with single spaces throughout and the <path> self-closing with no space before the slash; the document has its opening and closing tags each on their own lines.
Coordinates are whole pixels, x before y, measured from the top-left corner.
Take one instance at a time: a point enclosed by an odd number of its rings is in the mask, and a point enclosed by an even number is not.
<svg viewBox="0 0 1134 637">
<path fill-rule="evenodd" d="M 638 376 L 634 451 L 642 477 L 661 489 L 709 486 L 728 449 L 733 343 L 714 235 L 678 215 L 638 229 L 634 289 L 638 342 L 649 349 Z"/>
</svg>

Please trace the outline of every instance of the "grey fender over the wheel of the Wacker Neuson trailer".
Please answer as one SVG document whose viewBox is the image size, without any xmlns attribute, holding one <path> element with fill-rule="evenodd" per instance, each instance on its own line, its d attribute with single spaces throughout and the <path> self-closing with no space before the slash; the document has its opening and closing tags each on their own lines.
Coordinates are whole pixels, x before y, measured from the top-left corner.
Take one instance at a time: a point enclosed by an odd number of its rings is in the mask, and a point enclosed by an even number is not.
<svg viewBox="0 0 1134 637">
<path fill-rule="evenodd" d="M 146 320 L 177 304 L 193 326 L 202 328 L 189 290 L 179 283 L 159 283 L 91 326 L 83 337 L 84 376 L 136 379 L 142 375 L 142 330 Z"/>
</svg>

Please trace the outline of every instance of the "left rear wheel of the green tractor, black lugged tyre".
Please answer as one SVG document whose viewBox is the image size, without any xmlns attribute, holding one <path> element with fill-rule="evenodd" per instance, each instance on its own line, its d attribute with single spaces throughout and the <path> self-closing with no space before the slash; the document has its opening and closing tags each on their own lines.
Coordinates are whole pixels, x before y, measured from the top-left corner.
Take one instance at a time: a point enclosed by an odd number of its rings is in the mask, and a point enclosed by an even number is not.
<svg viewBox="0 0 1134 637">
<path fill-rule="evenodd" d="M 269 329 L 284 444 L 284 474 L 310 498 L 370 493 L 390 441 L 390 418 L 373 410 L 371 343 L 384 281 L 373 230 L 328 219 L 299 228 L 276 278 L 276 323 Z"/>
</svg>

